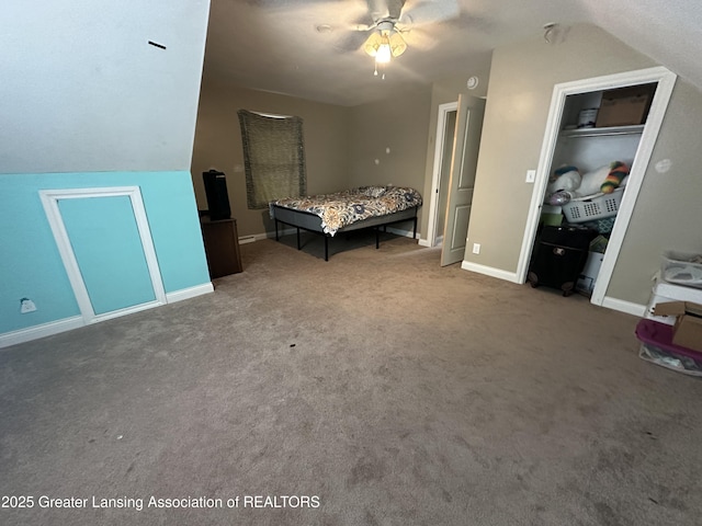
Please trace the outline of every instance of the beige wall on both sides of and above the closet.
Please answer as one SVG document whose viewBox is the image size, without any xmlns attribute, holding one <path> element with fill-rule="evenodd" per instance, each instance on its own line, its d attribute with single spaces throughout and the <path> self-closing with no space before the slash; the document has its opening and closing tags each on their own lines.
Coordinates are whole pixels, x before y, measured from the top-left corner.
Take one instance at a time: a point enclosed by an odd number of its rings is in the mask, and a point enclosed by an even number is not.
<svg viewBox="0 0 702 526">
<path fill-rule="evenodd" d="M 554 84 L 658 65 L 592 25 L 573 27 L 559 45 L 535 37 L 496 49 L 492 57 L 468 227 L 468 245 L 480 243 L 480 253 L 466 251 L 465 261 L 513 274 L 533 191 L 524 176 L 539 163 Z M 702 252 L 700 118 L 702 93 L 678 79 L 608 297 L 646 305 L 664 250 Z M 658 173 L 656 163 L 666 159 L 671 170 Z"/>
</svg>

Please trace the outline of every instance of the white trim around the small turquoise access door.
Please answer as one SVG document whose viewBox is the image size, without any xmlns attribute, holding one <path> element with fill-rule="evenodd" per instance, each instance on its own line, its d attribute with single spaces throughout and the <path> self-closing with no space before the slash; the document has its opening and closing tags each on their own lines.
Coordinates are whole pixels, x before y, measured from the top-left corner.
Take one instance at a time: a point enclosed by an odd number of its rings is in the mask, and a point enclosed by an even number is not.
<svg viewBox="0 0 702 526">
<path fill-rule="evenodd" d="M 73 249 L 68 237 L 68 231 L 64 225 L 58 202 L 61 199 L 80 199 L 88 197 L 117 197 L 127 196 L 132 203 L 132 209 L 134 210 L 134 218 L 139 232 L 139 239 L 141 241 L 141 248 L 146 258 L 146 264 L 151 278 L 151 286 L 154 287 L 154 294 L 156 299 L 147 301 L 145 304 L 126 307 L 124 309 L 113 310 L 102 315 L 95 315 L 88 288 L 83 282 L 78 266 L 78 260 L 73 253 Z M 104 321 L 118 316 L 129 315 L 132 312 L 138 312 L 140 310 L 150 309 L 160 305 L 166 305 L 166 291 L 163 289 L 163 282 L 161 279 L 161 273 L 158 266 L 158 260 L 156 258 L 156 250 L 154 248 L 154 241 L 151 238 L 151 231 L 149 229 L 148 219 L 146 217 L 146 209 L 144 208 L 144 201 L 141 199 L 141 191 L 138 186 L 117 186 L 117 187 L 104 187 L 104 188 L 68 188 L 68 190 L 41 190 L 39 197 L 42 205 L 46 213 L 54 239 L 58 247 L 58 252 L 64 262 L 68 279 L 76 295 L 80 313 L 83 318 L 83 322 L 95 323 L 98 321 Z"/>
</svg>

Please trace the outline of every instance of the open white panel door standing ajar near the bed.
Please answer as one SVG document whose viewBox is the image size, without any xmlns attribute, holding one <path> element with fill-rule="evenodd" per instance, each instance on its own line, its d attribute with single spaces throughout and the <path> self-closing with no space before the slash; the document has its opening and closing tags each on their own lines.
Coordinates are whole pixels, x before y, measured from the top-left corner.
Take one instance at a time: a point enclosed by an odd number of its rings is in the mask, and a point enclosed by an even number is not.
<svg viewBox="0 0 702 526">
<path fill-rule="evenodd" d="M 483 99 L 467 93 L 458 95 L 457 121 L 451 156 L 449 203 L 441 249 L 442 266 L 462 261 L 465 254 L 484 115 Z"/>
</svg>

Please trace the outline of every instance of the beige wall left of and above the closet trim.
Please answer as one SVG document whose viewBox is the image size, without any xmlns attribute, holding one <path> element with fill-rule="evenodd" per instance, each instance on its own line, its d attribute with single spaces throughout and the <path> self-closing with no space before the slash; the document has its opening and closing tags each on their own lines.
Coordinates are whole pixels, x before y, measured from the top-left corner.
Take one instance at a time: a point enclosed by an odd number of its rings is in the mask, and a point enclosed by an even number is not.
<svg viewBox="0 0 702 526">
<path fill-rule="evenodd" d="M 540 35 L 494 52 L 468 226 L 480 253 L 466 251 L 465 261 L 517 272 L 533 191 L 524 179 L 539 164 L 553 87 L 652 66 L 592 25 L 574 26 L 557 45 Z"/>
</svg>

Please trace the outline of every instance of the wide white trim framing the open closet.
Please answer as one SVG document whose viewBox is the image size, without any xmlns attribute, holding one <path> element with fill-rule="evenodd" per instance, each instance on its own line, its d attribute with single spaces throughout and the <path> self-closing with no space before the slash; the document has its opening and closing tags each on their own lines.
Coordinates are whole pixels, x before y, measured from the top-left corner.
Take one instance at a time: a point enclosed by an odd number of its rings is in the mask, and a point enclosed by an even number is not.
<svg viewBox="0 0 702 526">
<path fill-rule="evenodd" d="M 548 119 L 546 122 L 546 130 L 544 133 L 544 141 L 539 157 L 539 165 L 536 168 L 536 178 L 532 191 L 531 205 L 526 217 L 522 247 L 517 265 L 517 278 L 519 283 L 525 283 L 526 273 L 529 272 L 529 261 L 531 259 L 534 241 L 536 238 L 536 229 L 541 217 L 543 199 L 548 183 L 551 163 L 556 149 L 556 142 L 561 130 L 561 119 L 566 96 L 587 93 L 591 91 L 610 90 L 614 88 L 624 88 L 627 85 L 644 84 L 657 82 L 656 93 L 654 94 L 646 125 L 642 134 L 641 142 L 636 150 L 636 157 L 631 165 L 626 192 L 622 197 L 616 215 L 616 221 L 607 245 L 607 252 L 602 260 L 602 266 L 592 290 L 590 301 L 593 305 L 614 308 L 616 310 L 629 311 L 626 306 L 621 305 L 622 301 L 605 296 L 607 289 L 619 258 L 619 253 L 624 241 L 624 236 L 631 220 L 631 215 L 636 205 L 638 193 L 646 175 L 646 169 L 653 155 L 654 146 L 663 124 L 668 102 L 675 87 L 677 76 L 664 67 L 655 67 L 623 73 L 608 75 L 591 79 L 576 80 L 563 82 L 554 85 L 548 110 Z"/>
</svg>

